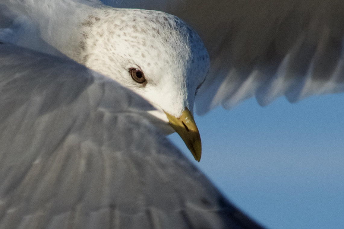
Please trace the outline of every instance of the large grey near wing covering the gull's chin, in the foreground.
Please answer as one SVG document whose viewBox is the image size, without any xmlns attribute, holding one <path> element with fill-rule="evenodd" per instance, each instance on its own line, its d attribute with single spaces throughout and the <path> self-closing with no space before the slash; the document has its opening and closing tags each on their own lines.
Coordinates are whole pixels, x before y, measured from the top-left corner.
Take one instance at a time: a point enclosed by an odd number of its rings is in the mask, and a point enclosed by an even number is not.
<svg viewBox="0 0 344 229">
<path fill-rule="evenodd" d="M 76 62 L 0 44 L 0 228 L 261 228 L 152 109 Z"/>
</svg>

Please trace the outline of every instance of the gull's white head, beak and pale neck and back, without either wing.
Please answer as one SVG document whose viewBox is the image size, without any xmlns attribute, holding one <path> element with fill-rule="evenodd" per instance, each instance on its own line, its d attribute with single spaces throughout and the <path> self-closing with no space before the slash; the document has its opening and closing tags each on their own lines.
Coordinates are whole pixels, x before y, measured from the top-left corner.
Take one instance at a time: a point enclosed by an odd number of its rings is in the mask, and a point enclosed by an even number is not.
<svg viewBox="0 0 344 229">
<path fill-rule="evenodd" d="M 165 132 L 179 133 L 200 161 L 193 104 L 209 56 L 189 25 L 167 13 L 115 9 L 97 1 L 36 3 L 10 1 L 3 7 L 3 21 L 13 24 L 3 29 L 3 40 L 61 53 L 134 90 L 160 111 L 155 115 L 165 122 Z"/>
</svg>

